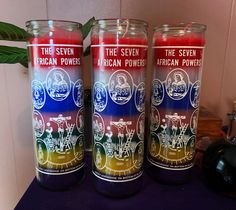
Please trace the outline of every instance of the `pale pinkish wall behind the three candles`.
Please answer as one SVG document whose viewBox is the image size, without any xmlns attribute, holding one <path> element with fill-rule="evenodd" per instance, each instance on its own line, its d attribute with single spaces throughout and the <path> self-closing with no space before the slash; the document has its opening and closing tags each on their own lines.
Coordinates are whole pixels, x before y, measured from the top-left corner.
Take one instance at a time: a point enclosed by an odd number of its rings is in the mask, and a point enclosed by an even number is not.
<svg viewBox="0 0 236 210">
<path fill-rule="evenodd" d="M 163 23 L 200 22 L 208 26 L 201 105 L 226 122 L 236 98 L 236 0 L 0 0 L 0 21 L 24 27 L 29 19 L 85 22 L 127 17 Z M 86 41 L 86 45 L 88 40 Z M 21 45 L 22 46 L 22 45 Z M 86 58 L 85 84 L 91 85 Z M 148 81 L 150 80 L 150 68 Z M 20 65 L 0 65 L 0 209 L 13 209 L 34 177 L 29 77 Z"/>
</svg>

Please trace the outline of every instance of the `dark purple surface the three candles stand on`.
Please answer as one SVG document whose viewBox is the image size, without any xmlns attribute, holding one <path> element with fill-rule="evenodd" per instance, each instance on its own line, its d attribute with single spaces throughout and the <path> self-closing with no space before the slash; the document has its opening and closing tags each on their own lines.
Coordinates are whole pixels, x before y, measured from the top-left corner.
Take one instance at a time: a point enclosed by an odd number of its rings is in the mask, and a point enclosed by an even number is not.
<svg viewBox="0 0 236 210">
<path fill-rule="evenodd" d="M 207 187 L 199 168 L 193 169 L 190 183 L 180 186 L 162 185 L 144 173 L 143 188 L 139 193 L 126 199 L 112 199 L 95 191 L 90 155 L 87 157 L 86 167 L 83 182 L 68 191 L 48 191 L 34 179 L 15 210 L 236 209 L 236 200 Z"/>
</svg>

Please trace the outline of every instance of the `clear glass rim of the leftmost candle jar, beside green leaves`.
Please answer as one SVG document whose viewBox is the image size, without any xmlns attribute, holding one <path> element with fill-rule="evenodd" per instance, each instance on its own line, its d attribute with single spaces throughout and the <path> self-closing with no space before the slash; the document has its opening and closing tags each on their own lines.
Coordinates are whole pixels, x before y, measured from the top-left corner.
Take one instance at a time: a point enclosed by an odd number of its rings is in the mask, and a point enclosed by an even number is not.
<svg viewBox="0 0 236 210">
<path fill-rule="evenodd" d="M 35 28 L 38 28 L 39 26 L 49 26 L 52 27 L 55 24 L 71 24 L 75 27 L 82 27 L 82 24 L 76 21 L 69 21 L 69 20 L 53 20 L 53 19 L 38 19 L 38 20 L 28 20 L 25 22 L 25 26 L 34 26 Z"/>
</svg>

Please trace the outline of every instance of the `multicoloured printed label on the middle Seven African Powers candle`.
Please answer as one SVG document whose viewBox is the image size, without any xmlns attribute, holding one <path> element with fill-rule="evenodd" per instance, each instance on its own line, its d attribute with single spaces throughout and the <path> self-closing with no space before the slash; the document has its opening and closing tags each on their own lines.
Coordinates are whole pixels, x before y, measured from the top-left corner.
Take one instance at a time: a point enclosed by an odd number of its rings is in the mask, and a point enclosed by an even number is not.
<svg viewBox="0 0 236 210">
<path fill-rule="evenodd" d="M 93 173 L 126 182 L 142 175 L 146 45 L 92 45 Z"/>
</svg>

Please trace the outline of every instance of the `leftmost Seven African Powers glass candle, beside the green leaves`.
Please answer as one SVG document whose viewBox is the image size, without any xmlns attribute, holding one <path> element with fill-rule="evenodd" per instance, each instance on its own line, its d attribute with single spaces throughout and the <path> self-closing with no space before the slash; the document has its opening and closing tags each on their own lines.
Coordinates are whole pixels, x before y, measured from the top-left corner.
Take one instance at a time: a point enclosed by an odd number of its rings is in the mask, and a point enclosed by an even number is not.
<svg viewBox="0 0 236 210">
<path fill-rule="evenodd" d="M 81 24 L 26 23 L 32 91 L 36 177 L 52 190 L 84 176 L 84 100 Z"/>
</svg>

